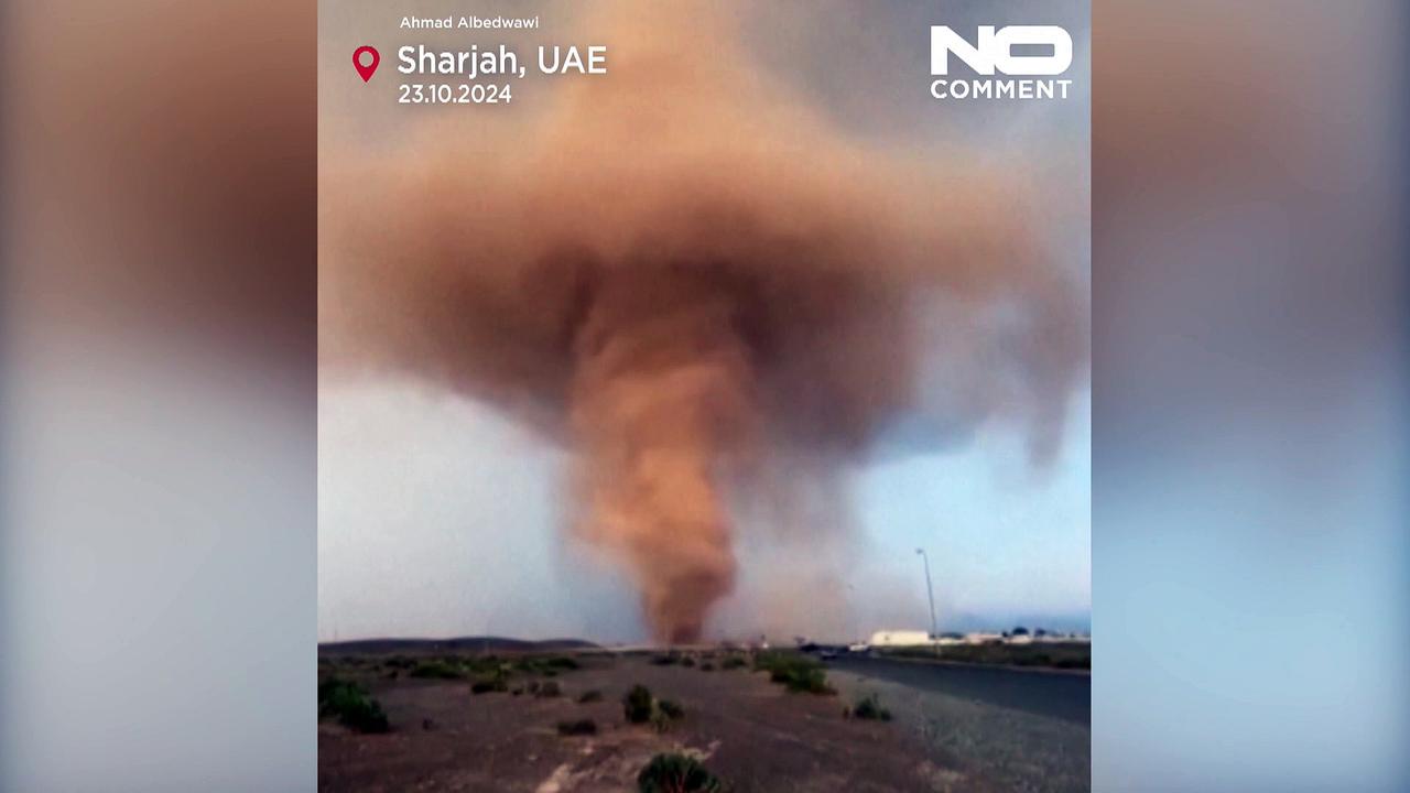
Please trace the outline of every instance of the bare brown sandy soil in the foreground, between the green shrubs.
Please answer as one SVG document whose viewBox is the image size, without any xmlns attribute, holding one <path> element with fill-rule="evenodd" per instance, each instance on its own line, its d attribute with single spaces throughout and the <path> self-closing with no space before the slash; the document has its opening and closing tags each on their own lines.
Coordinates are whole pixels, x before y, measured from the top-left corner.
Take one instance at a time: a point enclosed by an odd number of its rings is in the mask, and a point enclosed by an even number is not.
<svg viewBox="0 0 1410 793">
<path fill-rule="evenodd" d="M 471 694 L 468 682 L 389 680 L 379 667 L 338 669 L 367 684 L 392 724 L 384 735 L 319 725 L 326 792 L 636 790 L 658 752 L 687 752 L 744 792 L 1066 793 L 1087 790 L 1089 731 L 1005 708 L 832 672 L 838 696 L 790 694 L 767 674 L 656 666 L 644 658 L 580 658 L 554 680 L 563 696 Z M 515 679 L 510 687 L 527 682 Z M 642 683 L 678 701 L 666 732 L 627 724 L 622 696 Z M 580 704 L 588 690 L 599 703 Z M 877 693 L 891 722 L 843 718 Z M 560 737 L 557 722 L 592 718 L 596 735 Z"/>
</svg>

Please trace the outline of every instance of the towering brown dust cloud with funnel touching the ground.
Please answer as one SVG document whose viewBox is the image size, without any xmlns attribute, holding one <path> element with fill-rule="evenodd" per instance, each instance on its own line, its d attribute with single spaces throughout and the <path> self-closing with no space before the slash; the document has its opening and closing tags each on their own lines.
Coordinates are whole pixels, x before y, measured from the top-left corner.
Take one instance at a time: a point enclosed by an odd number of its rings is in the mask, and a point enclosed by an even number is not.
<svg viewBox="0 0 1410 793">
<path fill-rule="evenodd" d="M 921 450 L 1001 420 L 1049 460 L 1087 365 L 1084 286 L 1014 179 L 849 138 L 718 8 L 602 7 L 606 76 L 320 162 L 324 377 L 413 377 L 565 449 L 570 531 L 667 642 L 735 587 L 744 505 L 805 514 L 907 416 L 946 428 Z"/>
</svg>

